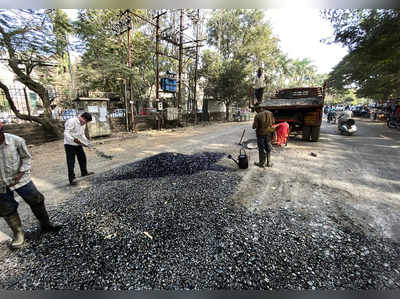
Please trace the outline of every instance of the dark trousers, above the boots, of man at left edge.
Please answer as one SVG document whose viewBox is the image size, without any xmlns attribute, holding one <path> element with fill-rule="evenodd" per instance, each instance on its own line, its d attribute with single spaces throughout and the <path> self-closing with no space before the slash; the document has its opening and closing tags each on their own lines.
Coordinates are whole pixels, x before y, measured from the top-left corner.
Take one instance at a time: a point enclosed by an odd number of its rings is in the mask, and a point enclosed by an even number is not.
<svg viewBox="0 0 400 299">
<path fill-rule="evenodd" d="M 30 206 L 42 205 L 44 196 L 40 193 L 32 181 L 14 190 Z M 18 202 L 14 198 L 14 191 L 7 187 L 6 193 L 0 193 L 0 216 L 8 217 L 17 212 Z"/>
</svg>

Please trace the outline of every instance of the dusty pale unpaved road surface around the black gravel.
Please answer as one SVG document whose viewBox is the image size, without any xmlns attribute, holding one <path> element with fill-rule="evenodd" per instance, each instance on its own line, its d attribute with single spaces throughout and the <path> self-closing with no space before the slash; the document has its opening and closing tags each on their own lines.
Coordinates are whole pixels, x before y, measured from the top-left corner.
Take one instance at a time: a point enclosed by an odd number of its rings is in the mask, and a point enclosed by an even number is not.
<svg viewBox="0 0 400 299">
<path fill-rule="evenodd" d="M 315 211 L 322 213 L 328 222 L 400 241 L 400 131 L 388 129 L 382 122 L 356 121 L 359 131 L 355 136 L 341 136 L 336 125 L 324 121 L 318 143 L 291 137 L 287 147 L 274 148 L 272 168 L 253 165 L 258 161 L 256 149 L 247 150 L 250 156 L 247 170 L 239 170 L 227 158 L 220 161 L 237 169 L 243 178 L 234 195 L 237 204 L 254 213 L 276 207 L 307 214 Z M 244 129 L 244 139 L 255 140 L 251 122 L 213 123 L 98 139 L 94 141 L 95 147 L 113 158 L 106 159 L 96 155 L 95 150 L 86 150 L 88 169 L 98 174 L 161 152 L 214 151 L 237 157 Z M 61 202 L 74 200 L 74 194 L 89 186 L 86 178 L 79 179 L 78 186 L 68 185 L 62 140 L 30 150 L 33 181 L 45 195 L 50 213 Z M 79 176 L 78 165 L 75 169 Z M 35 221 L 23 201 L 19 212 L 25 224 Z M 11 233 L 4 221 L 0 222 L 0 232 Z"/>
</svg>

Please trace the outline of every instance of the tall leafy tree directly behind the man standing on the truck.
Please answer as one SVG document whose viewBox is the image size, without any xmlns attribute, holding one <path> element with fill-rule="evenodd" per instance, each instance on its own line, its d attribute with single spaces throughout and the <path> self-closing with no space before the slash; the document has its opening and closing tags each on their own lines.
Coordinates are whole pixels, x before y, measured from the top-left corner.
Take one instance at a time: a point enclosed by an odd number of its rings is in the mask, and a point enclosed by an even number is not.
<svg viewBox="0 0 400 299">
<path fill-rule="evenodd" d="M 258 66 L 264 65 L 267 89 L 272 85 L 280 51 L 263 17 L 261 10 L 214 10 L 207 23 L 208 43 L 217 52 L 204 54 L 202 73 L 207 94 L 227 106 L 227 117 L 232 104 L 246 100 Z"/>
</svg>

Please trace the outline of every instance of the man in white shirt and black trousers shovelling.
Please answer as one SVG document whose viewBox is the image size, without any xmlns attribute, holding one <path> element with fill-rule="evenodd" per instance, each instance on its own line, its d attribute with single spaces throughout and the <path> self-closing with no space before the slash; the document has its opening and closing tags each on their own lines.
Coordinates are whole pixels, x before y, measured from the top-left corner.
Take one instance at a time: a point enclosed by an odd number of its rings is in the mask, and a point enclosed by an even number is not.
<svg viewBox="0 0 400 299">
<path fill-rule="evenodd" d="M 92 121 L 92 115 L 84 112 L 78 117 L 70 118 L 65 122 L 64 148 L 67 156 L 68 179 L 72 186 L 78 183 L 75 180 L 75 156 L 78 158 L 82 176 L 94 174 L 87 170 L 87 160 L 83 146 L 90 146 L 90 141 L 85 136 L 86 124 Z"/>
</svg>

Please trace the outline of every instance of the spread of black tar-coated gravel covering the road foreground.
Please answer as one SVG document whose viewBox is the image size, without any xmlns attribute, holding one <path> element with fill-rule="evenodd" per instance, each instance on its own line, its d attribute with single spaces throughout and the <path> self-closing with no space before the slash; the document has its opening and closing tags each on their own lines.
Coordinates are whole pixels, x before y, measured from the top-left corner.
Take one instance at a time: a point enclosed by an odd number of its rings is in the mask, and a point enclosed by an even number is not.
<svg viewBox="0 0 400 299">
<path fill-rule="evenodd" d="M 92 178 L 52 213 L 58 234 L 0 248 L 2 289 L 388 289 L 399 244 L 318 215 L 231 200 L 221 153 L 163 153 Z M 27 225 L 25 225 L 27 227 Z M 31 227 L 33 229 L 34 226 Z"/>
</svg>

